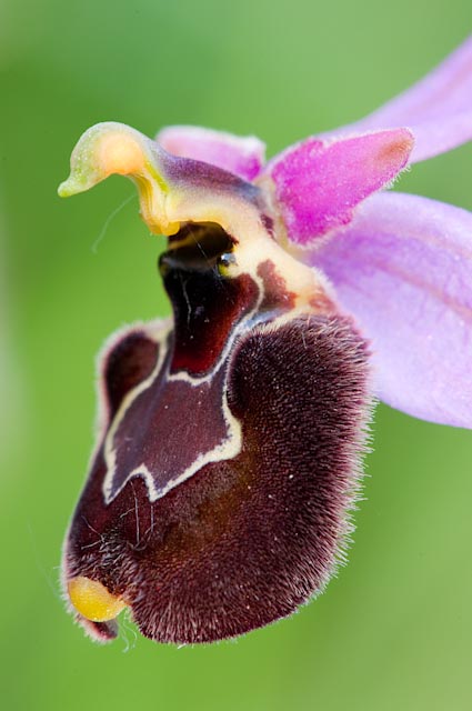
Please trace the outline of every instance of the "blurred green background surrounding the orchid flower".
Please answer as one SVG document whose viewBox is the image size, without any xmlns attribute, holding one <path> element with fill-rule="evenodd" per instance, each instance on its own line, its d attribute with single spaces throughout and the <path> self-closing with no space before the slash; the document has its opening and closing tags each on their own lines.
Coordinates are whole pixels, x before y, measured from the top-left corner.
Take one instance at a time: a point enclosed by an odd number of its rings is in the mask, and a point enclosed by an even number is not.
<svg viewBox="0 0 472 711">
<path fill-rule="evenodd" d="M 471 437 L 383 407 L 349 565 L 317 602 L 207 648 L 130 623 L 98 647 L 72 624 L 58 563 L 92 447 L 94 356 L 169 307 L 135 198 L 116 213 L 130 183 L 56 196 L 97 121 L 255 133 L 273 154 L 405 88 L 471 20 L 470 0 L 1 0 L 3 709 L 472 708 Z M 472 209 L 471 169 L 469 146 L 401 189 Z"/>
</svg>

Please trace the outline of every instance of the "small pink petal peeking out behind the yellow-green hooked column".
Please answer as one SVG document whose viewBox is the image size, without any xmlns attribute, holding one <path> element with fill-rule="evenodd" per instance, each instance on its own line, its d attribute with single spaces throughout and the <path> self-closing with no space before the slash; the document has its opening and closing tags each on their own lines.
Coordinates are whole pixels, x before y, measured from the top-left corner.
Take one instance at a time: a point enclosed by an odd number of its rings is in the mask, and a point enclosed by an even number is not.
<svg viewBox="0 0 472 711">
<path fill-rule="evenodd" d="M 264 163 L 265 146 L 253 136 L 242 138 L 195 126 L 170 126 L 155 140 L 169 153 L 212 163 L 244 180 L 253 180 Z"/>
</svg>

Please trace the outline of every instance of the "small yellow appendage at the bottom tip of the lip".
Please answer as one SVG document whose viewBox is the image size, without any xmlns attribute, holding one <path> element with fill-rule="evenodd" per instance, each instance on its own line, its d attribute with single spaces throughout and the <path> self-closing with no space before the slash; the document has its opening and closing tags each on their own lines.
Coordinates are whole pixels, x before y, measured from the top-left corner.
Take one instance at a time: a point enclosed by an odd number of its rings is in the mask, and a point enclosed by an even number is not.
<svg viewBox="0 0 472 711">
<path fill-rule="evenodd" d="M 101 582 L 83 575 L 69 580 L 68 591 L 76 610 L 92 622 L 113 620 L 127 607 L 121 598 L 112 595 Z"/>
</svg>

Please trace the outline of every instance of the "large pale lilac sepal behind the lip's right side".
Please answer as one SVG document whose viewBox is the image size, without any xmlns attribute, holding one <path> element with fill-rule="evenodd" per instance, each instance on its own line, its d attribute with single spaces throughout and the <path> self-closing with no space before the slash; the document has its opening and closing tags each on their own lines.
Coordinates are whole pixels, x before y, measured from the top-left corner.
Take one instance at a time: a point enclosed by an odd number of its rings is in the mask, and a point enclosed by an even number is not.
<svg viewBox="0 0 472 711">
<path fill-rule="evenodd" d="M 433 422 L 472 427 L 472 213 L 374 196 L 312 262 L 371 339 L 379 395 Z"/>
</svg>

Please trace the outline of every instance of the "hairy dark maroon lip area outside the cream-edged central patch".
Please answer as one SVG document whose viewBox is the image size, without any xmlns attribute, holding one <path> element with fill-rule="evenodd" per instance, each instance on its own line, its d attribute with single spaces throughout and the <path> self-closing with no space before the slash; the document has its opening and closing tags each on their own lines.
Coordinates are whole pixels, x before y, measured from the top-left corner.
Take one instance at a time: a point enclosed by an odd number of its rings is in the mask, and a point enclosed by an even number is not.
<svg viewBox="0 0 472 711">
<path fill-rule="evenodd" d="M 292 357 L 307 350 L 317 367 L 310 358 L 293 371 Z M 363 341 L 339 318 L 244 334 L 228 383 L 240 453 L 152 503 L 137 477 L 106 504 L 99 452 L 71 527 L 71 574 L 125 597 L 143 634 L 160 642 L 211 642 L 293 612 L 322 590 L 349 533 L 365 362 Z"/>
</svg>

